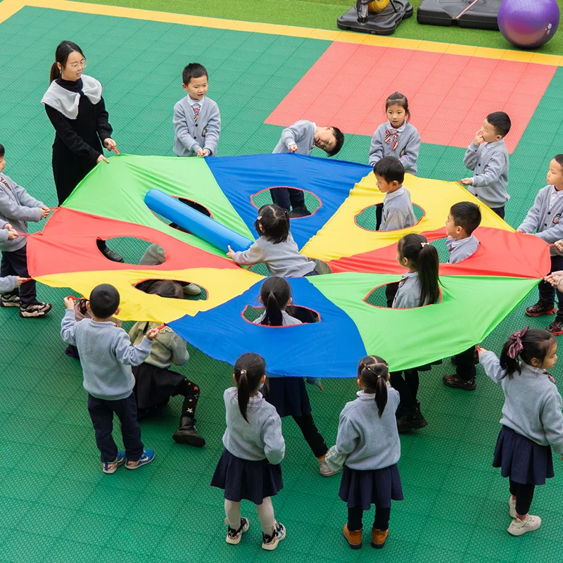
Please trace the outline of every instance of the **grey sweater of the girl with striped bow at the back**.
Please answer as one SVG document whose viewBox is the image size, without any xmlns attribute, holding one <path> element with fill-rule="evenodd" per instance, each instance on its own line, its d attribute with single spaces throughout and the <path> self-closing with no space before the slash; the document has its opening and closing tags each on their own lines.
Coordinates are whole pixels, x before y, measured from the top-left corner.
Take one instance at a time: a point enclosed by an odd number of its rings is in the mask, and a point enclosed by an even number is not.
<svg viewBox="0 0 563 563">
<path fill-rule="evenodd" d="M 404 127 L 404 129 L 403 129 Z M 397 132 L 397 146 L 391 150 L 391 142 L 385 142 L 386 131 Z M 417 160 L 420 151 L 420 135 L 417 128 L 405 121 L 398 129 L 393 129 L 390 122 L 381 123 L 372 137 L 372 144 L 369 146 L 369 165 L 373 166 L 384 156 L 394 156 L 398 158 L 405 167 L 405 172 L 416 175 Z"/>
</svg>

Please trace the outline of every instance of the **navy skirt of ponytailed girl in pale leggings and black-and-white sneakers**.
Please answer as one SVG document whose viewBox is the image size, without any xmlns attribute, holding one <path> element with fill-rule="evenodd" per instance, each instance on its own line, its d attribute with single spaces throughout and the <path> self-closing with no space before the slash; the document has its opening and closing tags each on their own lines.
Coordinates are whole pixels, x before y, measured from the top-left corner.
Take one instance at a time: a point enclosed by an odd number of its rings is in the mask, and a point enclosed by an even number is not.
<svg viewBox="0 0 563 563">
<path fill-rule="evenodd" d="M 223 450 L 211 486 L 224 489 L 224 498 L 233 502 L 250 500 L 261 505 L 266 497 L 277 495 L 284 488 L 281 465 L 268 460 L 251 462 Z"/>
</svg>

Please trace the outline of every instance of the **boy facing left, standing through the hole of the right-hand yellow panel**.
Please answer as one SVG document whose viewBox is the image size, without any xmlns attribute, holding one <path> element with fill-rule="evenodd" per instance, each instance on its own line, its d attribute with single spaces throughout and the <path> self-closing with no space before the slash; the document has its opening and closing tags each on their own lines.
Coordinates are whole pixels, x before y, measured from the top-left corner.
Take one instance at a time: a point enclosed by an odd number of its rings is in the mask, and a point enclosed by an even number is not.
<svg viewBox="0 0 563 563">
<path fill-rule="evenodd" d="M 385 194 L 380 231 L 395 231 L 412 227 L 417 222 L 412 210 L 410 192 L 403 186 L 405 167 L 394 156 L 384 156 L 374 165 L 377 188 Z M 393 300 L 399 288 L 399 282 L 385 286 L 387 306 L 393 307 Z"/>
</svg>

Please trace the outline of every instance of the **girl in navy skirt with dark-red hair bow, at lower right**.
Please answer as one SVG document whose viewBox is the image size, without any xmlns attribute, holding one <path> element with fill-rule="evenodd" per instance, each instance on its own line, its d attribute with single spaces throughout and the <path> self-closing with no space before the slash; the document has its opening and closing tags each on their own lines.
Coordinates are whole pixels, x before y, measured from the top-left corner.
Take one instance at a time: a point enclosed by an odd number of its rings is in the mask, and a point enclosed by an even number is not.
<svg viewBox="0 0 563 563">
<path fill-rule="evenodd" d="M 505 393 L 493 467 L 510 479 L 512 536 L 541 526 L 540 517 L 529 514 L 533 491 L 553 476 L 551 446 L 563 459 L 562 399 L 548 374 L 556 353 L 552 334 L 528 327 L 509 336 L 500 361 L 493 352 L 479 349 L 485 373 Z"/>
</svg>

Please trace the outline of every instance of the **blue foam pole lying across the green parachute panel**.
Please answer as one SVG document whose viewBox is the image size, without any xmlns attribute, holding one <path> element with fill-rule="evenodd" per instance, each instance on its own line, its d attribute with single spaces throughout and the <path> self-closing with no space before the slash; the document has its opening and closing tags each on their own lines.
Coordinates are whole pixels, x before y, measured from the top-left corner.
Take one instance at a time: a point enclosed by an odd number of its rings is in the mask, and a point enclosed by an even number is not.
<svg viewBox="0 0 563 563">
<path fill-rule="evenodd" d="M 227 246 L 235 252 L 246 251 L 254 242 L 159 189 L 147 191 L 144 201 L 154 213 L 162 215 L 224 252 L 227 252 Z"/>
</svg>

